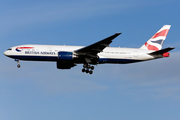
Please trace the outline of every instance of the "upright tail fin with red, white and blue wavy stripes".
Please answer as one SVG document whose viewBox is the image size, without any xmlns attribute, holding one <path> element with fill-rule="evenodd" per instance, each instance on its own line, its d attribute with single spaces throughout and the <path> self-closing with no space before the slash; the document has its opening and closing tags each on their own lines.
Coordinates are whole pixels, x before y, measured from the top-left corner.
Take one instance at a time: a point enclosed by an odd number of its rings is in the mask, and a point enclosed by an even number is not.
<svg viewBox="0 0 180 120">
<path fill-rule="evenodd" d="M 164 25 L 154 36 L 152 36 L 140 49 L 161 50 L 164 40 L 169 32 L 171 25 Z"/>
</svg>

